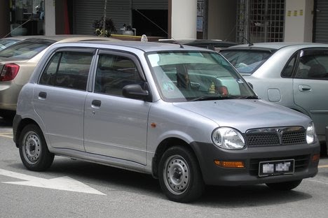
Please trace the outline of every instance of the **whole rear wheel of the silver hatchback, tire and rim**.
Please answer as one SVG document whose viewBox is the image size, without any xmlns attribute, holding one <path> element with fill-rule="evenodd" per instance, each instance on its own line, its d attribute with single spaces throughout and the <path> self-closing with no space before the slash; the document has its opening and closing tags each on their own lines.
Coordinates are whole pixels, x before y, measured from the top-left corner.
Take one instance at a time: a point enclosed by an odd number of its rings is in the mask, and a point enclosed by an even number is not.
<svg viewBox="0 0 328 218">
<path fill-rule="evenodd" d="M 19 138 L 20 159 L 24 166 L 33 171 L 46 170 L 55 157 L 50 153 L 39 126 L 29 124 L 22 129 Z"/>
</svg>

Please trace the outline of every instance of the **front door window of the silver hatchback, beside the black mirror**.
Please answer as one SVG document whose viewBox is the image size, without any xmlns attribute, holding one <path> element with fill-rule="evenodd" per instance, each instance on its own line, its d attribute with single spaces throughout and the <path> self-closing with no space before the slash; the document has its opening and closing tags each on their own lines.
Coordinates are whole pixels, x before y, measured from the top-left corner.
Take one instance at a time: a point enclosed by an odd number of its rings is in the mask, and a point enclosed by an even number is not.
<svg viewBox="0 0 328 218">
<path fill-rule="evenodd" d="M 144 84 L 132 59 L 116 54 L 100 54 L 95 92 L 122 96 L 123 87 L 131 84 Z"/>
</svg>

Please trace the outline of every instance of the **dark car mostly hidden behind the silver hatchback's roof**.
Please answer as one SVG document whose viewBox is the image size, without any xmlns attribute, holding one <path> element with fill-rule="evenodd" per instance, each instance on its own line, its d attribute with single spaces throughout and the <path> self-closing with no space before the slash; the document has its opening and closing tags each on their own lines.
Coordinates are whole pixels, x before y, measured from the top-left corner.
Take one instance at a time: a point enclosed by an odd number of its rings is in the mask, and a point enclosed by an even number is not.
<svg viewBox="0 0 328 218">
<path fill-rule="evenodd" d="M 221 41 L 221 40 L 207 40 L 207 39 L 160 39 L 160 43 L 175 43 L 181 45 L 191 45 L 199 48 L 207 48 L 214 51 L 219 51 L 222 48 L 228 48 L 233 45 L 238 45 L 238 43 Z"/>
</svg>

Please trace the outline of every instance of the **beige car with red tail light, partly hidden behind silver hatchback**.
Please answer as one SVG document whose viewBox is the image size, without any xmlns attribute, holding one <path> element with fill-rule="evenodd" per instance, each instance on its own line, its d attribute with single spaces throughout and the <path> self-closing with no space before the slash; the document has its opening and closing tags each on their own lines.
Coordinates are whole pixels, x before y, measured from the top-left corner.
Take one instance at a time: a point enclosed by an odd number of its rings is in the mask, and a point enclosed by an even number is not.
<svg viewBox="0 0 328 218">
<path fill-rule="evenodd" d="M 0 117 L 12 119 L 18 94 L 49 45 L 86 40 L 118 41 L 114 38 L 81 35 L 28 36 L 0 51 Z"/>
</svg>

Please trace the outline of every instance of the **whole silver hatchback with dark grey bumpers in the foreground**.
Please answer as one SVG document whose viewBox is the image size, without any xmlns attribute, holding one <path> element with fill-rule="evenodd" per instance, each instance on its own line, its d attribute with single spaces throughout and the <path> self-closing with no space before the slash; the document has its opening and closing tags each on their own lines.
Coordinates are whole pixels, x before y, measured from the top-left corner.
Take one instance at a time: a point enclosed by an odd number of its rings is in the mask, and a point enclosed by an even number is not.
<svg viewBox="0 0 328 218">
<path fill-rule="evenodd" d="M 205 184 L 294 189 L 320 158 L 308 116 L 258 99 L 217 52 L 166 43 L 51 45 L 13 133 L 29 170 L 55 155 L 136 170 L 178 202 Z"/>
</svg>

